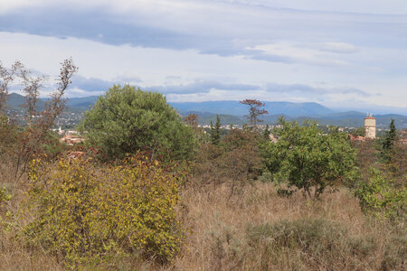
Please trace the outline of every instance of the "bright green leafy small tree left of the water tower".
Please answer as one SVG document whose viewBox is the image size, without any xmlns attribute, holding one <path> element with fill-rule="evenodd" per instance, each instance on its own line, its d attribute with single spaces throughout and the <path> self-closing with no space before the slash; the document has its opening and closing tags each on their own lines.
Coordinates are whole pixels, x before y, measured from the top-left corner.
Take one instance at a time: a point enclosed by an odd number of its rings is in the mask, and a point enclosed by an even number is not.
<svg viewBox="0 0 407 271">
<path fill-rule="evenodd" d="M 273 131 L 279 141 L 266 142 L 264 151 L 265 164 L 275 179 L 287 180 L 289 187 L 315 199 L 327 186 L 350 176 L 355 150 L 345 133 L 336 128 L 323 135 L 315 122 L 299 126 L 284 118 L 279 126 Z"/>
</svg>

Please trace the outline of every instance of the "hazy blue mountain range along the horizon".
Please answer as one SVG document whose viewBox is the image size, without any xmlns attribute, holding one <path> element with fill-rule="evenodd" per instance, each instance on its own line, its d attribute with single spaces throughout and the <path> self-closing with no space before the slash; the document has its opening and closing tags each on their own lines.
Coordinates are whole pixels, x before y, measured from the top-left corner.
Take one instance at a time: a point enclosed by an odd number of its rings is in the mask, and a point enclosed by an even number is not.
<svg viewBox="0 0 407 271">
<path fill-rule="evenodd" d="M 69 112 L 80 113 L 89 109 L 98 100 L 98 96 L 84 98 L 69 98 L 67 107 Z M 39 99 L 37 102 L 38 109 L 43 109 L 44 100 Z M 11 93 L 7 100 L 7 107 L 20 110 L 24 104 L 22 95 Z M 204 102 L 170 102 L 182 116 L 196 114 L 200 117 L 200 124 L 209 124 L 216 119 L 216 114 L 221 117 L 223 125 L 235 124 L 241 125 L 247 123 L 245 115 L 248 114 L 248 107 L 242 105 L 239 101 L 221 100 L 221 101 L 204 101 Z M 346 111 L 336 112 L 330 108 L 324 107 L 317 103 L 292 103 L 292 102 L 265 102 L 265 108 L 269 115 L 261 117 L 264 124 L 275 124 L 278 118 L 284 116 L 288 120 L 296 120 L 302 123 L 305 119 L 317 120 L 320 125 L 333 126 L 363 126 L 364 117 L 362 112 Z M 407 117 L 397 114 L 374 115 L 376 125 L 379 128 L 388 127 L 392 118 L 395 120 L 397 128 L 407 128 Z"/>
</svg>

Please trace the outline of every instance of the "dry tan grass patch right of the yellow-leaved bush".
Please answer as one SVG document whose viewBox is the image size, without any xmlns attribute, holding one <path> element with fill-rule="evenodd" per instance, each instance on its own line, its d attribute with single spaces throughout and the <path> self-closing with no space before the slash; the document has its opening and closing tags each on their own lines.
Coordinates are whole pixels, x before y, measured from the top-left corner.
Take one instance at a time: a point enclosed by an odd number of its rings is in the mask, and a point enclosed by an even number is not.
<svg viewBox="0 0 407 271">
<path fill-rule="evenodd" d="M 241 195 L 228 201 L 228 190 L 219 187 L 212 192 L 185 191 L 185 225 L 189 228 L 182 253 L 175 258 L 175 270 L 359 270 L 386 269 L 383 266 L 386 244 L 394 233 L 383 221 L 367 220 L 361 213 L 358 202 L 350 192 L 326 193 L 320 201 L 309 201 L 301 194 L 281 198 L 270 183 L 256 183 Z M 332 221 L 347 230 L 349 240 L 369 242 L 362 260 L 356 263 L 352 255 L 346 255 L 345 263 L 337 266 L 310 266 L 300 250 L 290 250 L 271 257 L 264 247 L 252 247 L 248 241 L 248 228 L 262 224 L 273 224 L 281 220 L 323 219 Z M 398 233 L 400 236 L 400 232 Z M 397 236 L 397 235 L 396 235 Z M 402 236 L 405 240 L 405 235 Z M 341 240 L 338 240 L 340 242 Z M 368 245 L 362 242 L 359 247 Z M 397 246 L 397 244 L 396 244 Z M 400 252 L 402 244 L 396 249 Z M 358 247 L 358 248 L 359 248 Z M 304 255 L 302 255 L 304 256 Z M 266 258 L 264 258 L 266 257 Z M 267 258 L 270 257 L 270 258 Z M 324 256 L 321 256 L 324 257 Z M 339 256 L 338 256 L 339 258 Z M 347 258 L 347 259 L 346 259 Z M 398 259 L 400 261 L 400 259 Z M 315 262 L 314 262 L 315 263 Z M 346 267 L 347 266 L 347 267 Z M 352 267 L 351 267 L 352 266 Z M 394 266 L 395 269 L 402 266 Z"/>
</svg>

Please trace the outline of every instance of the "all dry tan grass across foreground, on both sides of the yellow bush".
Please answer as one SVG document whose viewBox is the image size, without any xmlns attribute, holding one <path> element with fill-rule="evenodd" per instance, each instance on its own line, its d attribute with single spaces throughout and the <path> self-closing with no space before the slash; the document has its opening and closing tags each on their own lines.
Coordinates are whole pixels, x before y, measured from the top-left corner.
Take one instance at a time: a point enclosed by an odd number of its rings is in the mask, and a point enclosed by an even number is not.
<svg viewBox="0 0 407 271">
<path fill-rule="evenodd" d="M 0 186 L 6 186 L 14 195 L 6 208 L 16 212 L 24 199 L 24 180 L 18 183 L 1 181 Z M 358 201 L 345 188 L 335 193 L 327 192 L 319 201 L 309 201 L 300 193 L 289 198 L 279 197 L 271 183 L 261 182 L 246 186 L 230 199 L 229 194 L 230 189 L 226 185 L 201 190 L 186 188 L 181 192 L 183 204 L 179 213 L 185 225 L 185 242 L 170 265 L 156 266 L 148 261 L 140 263 L 135 259 L 118 258 L 96 269 L 402 270 L 406 267 L 402 266 L 402 261 L 404 265 L 406 263 L 403 255 L 407 254 L 403 225 L 397 228 L 364 217 Z M 340 250 L 345 255 L 338 255 L 337 263 L 332 264 L 332 259 L 324 261 L 326 256 L 323 252 L 320 255 L 323 260 L 318 260 L 300 248 L 270 250 L 267 242 L 253 243 L 248 238 L 249 230 L 255 226 L 307 219 L 327 220 L 345 229 L 345 238 L 337 240 L 338 246 L 348 248 L 352 240 L 359 241 L 361 243 L 356 249 L 363 251 L 363 257 Z M 30 220 L 30 214 L 16 220 L 17 224 L 24 225 Z M 0 270 L 62 269 L 61 264 L 41 249 L 25 248 L 14 238 L 15 232 L 0 233 Z M 327 266 L 327 263 L 332 265 Z M 95 267 L 84 269 L 93 270 Z"/>
</svg>

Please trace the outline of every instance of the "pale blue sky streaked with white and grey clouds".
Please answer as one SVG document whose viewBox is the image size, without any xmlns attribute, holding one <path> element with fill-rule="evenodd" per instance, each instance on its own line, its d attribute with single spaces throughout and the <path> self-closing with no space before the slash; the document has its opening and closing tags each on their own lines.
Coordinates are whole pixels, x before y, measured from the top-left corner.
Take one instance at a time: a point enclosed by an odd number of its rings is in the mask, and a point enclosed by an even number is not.
<svg viewBox="0 0 407 271">
<path fill-rule="evenodd" d="M 52 78 L 70 57 L 68 97 L 130 84 L 407 114 L 405 0 L 0 0 L 3 65 Z"/>
</svg>

